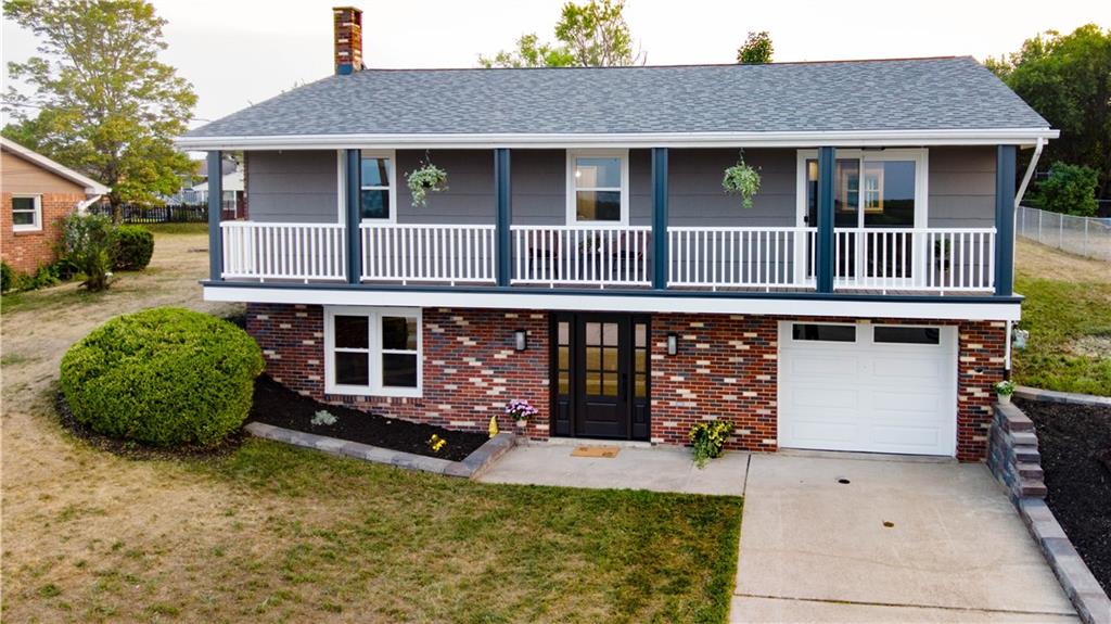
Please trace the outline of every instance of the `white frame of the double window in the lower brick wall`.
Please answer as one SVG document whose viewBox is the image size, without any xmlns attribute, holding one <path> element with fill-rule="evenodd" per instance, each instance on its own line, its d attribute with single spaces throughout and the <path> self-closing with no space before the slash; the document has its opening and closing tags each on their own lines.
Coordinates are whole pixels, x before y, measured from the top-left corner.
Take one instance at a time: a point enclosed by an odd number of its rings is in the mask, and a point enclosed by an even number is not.
<svg viewBox="0 0 1111 624">
<path fill-rule="evenodd" d="M 336 316 L 367 316 L 370 331 L 368 343 L 370 366 L 370 385 L 341 385 L 336 383 Z M 402 351 L 382 349 L 382 316 L 407 316 L 417 320 L 417 388 L 396 388 L 382 385 L 382 353 L 402 353 Z M 424 388 L 424 330 L 420 308 L 379 308 L 354 305 L 324 306 L 324 392 L 328 394 L 347 394 L 353 396 L 397 396 L 419 399 Z M 362 351 L 362 350 L 357 350 Z M 409 351 L 403 351 L 409 353 Z M 374 363 L 378 363 L 374 365 Z"/>
</svg>

